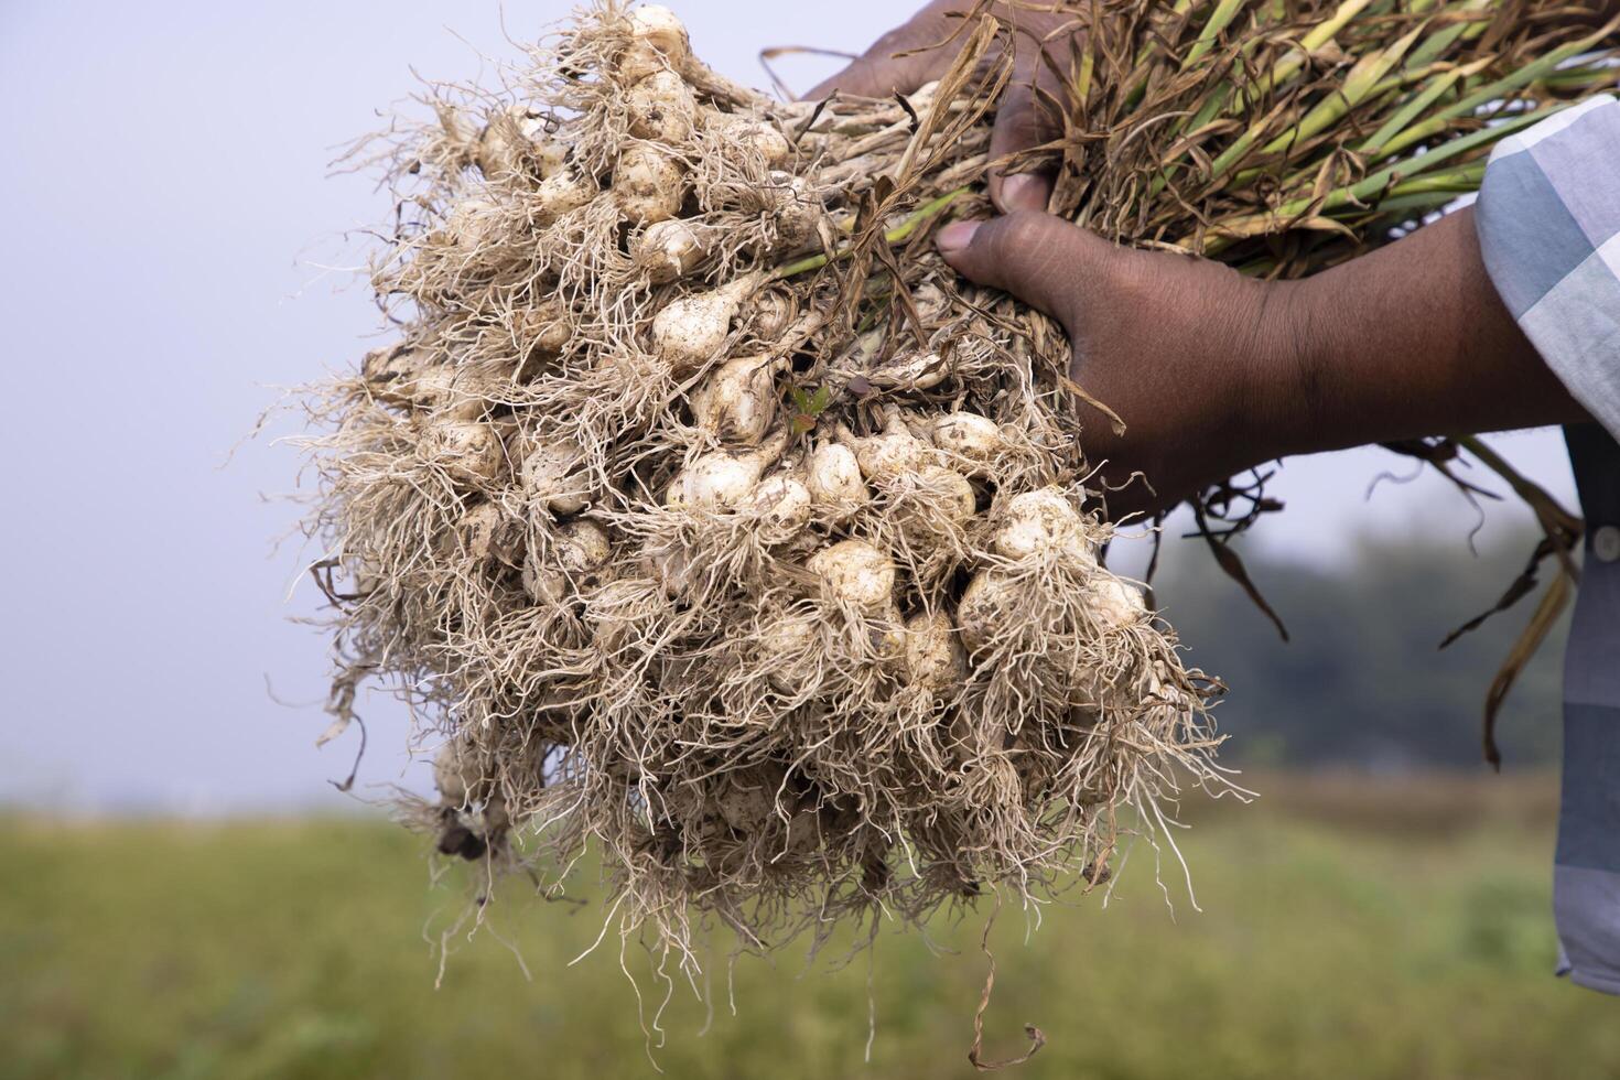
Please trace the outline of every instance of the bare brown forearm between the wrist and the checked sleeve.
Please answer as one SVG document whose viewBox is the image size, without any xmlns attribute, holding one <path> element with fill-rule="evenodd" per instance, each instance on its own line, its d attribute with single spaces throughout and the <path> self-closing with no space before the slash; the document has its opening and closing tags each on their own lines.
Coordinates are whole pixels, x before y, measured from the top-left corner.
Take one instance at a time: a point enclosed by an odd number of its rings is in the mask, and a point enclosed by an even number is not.
<svg viewBox="0 0 1620 1080">
<path fill-rule="evenodd" d="M 1471 210 L 1277 301 L 1283 348 L 1254 395 L 1267 455 L 1584 419 L 1497 298 Z"/>
</svg>

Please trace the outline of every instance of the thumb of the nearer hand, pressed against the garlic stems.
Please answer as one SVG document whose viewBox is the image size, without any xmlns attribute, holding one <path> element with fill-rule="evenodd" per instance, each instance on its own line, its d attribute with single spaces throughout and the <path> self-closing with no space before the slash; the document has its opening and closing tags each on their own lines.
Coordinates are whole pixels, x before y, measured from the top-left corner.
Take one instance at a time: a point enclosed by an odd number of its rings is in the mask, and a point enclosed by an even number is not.
<svg viewBox="0 0 1620 1080">
<path fill-rule="evenodd" d="M 951 222 L 935 243 L 962 277 L 1013 293 L 1071 330 L 1085 282 L 1115 251 L 1102 236 L 1035 210 Z"/>
</svg>

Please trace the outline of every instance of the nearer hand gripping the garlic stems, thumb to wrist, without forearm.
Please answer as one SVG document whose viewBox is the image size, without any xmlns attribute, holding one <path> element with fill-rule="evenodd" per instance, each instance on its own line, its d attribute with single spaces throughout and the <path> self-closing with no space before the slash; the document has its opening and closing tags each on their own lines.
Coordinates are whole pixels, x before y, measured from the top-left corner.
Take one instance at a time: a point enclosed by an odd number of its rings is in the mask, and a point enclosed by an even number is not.
<svg viewBox="0 0 1620 1080">
<path fill-rule="evenodd" d="M 1118 489 L 1110 517 L 1174 505 L 1267 460 L 1293 427 L 1278 416 L 1298 372 L 1290 283 L 1123 248 L 1027 210 L 954 222 L 936 243 L 964 277 L 1061 322 L 1071 377 L 1124 421 L 1115 434 L 1102 413 L 1085 418 L 1085 455 Z"/>
</svg>

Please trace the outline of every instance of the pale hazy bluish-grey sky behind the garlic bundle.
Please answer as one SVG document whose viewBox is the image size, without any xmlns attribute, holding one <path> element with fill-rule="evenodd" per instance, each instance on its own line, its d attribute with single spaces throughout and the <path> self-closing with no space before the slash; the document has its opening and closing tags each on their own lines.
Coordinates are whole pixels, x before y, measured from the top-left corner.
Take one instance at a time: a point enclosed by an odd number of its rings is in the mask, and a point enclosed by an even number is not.
<svg viewBox="0 0 1620 1080">
<path fill-rule="evenodd" d="M 716 68 L 765 86 L 763 45 L 860 47 L 906 3 L 679 3 Z M 8 572 L 0 801 L 212 813 L 340 808 L 326 780 L 353 742 L 324 727 L 324 643 L 293 486 L 269 440 L 225 453 L 274 385 L 348 364 L 376 313 L 342 267 L 386 212 L 363 178 L 326 178 L 334 147 L 411 92 L 411 68 L 473 78 L 502 36 L 531 37 L 564 3 L 0 3 L 0 304 L 11 418 L 0 424 Z M 745 15 L 742 15 L 745 13 Z M 782 65 L 799 87 L 826 62 Z M 285 432 L 288 427 L 280 426 Z M 1505 440 L 1570 491 L 1547 432 Z M 1332 560 L 1358 529 L 1416 518 L 1461 538 L 1469 518 L 1426 481 L 1362 492 L 1382 452 L 1290 461 L 1290 513 L 1262 541 Z M 1516 510 L 1498 512 L 1507 518 Z M 1197 552 L 1187 552 L 1196 555 Z M 292 589 L 292 593 L 290 593 Z M 290 596 L 290 599 L 288 599 Z M 1168 597 L 1173 602 L 1173 597 Z M 271 699 L 267 685 L 287 708 Z M 363 782 L 407 767 L 397 709 L 371 703 Z"/>
</svg>

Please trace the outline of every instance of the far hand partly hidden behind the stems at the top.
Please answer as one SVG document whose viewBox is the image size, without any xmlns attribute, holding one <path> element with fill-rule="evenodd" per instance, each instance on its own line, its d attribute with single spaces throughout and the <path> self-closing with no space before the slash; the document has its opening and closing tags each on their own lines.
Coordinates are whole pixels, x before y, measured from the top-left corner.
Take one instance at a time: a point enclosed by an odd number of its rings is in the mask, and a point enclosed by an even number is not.
<svg viewBox="0 0 1620 1080">
<path fill-rule="evenodd" d="M 972 11 L 972 0 L 933 0 L 909 21 L 894 28 L 855 58 L 847 68 L 805 94 L 826 97 L 833 91 L 865 97 L 909 94 L 951 66 L 961 49 L 962 15 Z M 990 159 L 1006 159 L 1019 151 L 1040 146 L 1058 131 L 1055 118 L 1042 107 L 1042 96 L 1061 99 L 1061 86 L 1042 62 L 1045 49 L 1059 66 L 1068 65 L 1068 39 L 1081 32 L 1072 15 L 1032 11 L 1017 5 L 996 3 L 991 11 L 1014 28 L 1013 81 L 996 102 L 995 128 L 990 134 Z M 906 55 L 896 55 L 906 53 Z M 1000 55 L 988 58 L 991 63 Z M 998 210 L 1045 210 L 1051 198 L 1051 176 L 1040 172 L 1003 175 L 1004 168 L 988 168 L 990 201 Z"/>
</svg>

